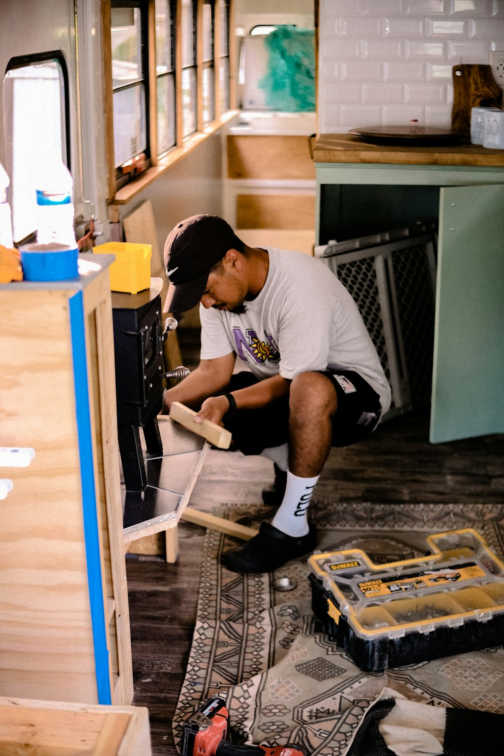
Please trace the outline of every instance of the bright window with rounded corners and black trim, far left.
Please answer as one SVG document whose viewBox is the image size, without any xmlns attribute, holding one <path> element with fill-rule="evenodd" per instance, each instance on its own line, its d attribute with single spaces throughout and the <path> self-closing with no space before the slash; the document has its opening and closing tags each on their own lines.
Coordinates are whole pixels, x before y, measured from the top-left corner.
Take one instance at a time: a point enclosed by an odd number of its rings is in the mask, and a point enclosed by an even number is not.
<svg viewBox="0 0 504 756">
<path fill-rule="evenodd" d="M 11 177 L 12 235 L 19 244 L 36 232 L 34 166 L 41 156 L 57 150 L 70 168 L 68 76 L 63 55 L 48 52 L 12 58 L 2 96 L 4 167 Z"/>
</svg>

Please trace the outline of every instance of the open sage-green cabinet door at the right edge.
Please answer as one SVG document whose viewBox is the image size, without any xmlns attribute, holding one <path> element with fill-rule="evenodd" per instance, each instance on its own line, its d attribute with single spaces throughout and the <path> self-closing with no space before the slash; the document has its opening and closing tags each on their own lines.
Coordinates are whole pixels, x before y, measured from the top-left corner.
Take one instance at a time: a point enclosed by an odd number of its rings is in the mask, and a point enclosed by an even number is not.
<svg viewBox="0 0 504 756">
<path fill-rule="evenodd" d="M 444 187 L 433 443 L 504 432 L 504 186 Z"/>
</svg>

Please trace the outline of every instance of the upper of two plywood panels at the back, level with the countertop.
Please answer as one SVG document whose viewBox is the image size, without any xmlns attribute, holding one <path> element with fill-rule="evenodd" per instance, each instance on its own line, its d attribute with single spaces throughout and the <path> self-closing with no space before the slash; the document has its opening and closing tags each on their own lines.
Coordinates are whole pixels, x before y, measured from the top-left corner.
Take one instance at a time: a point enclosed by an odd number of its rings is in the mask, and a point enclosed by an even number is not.
<svg viewBox="0 0 504 756">
<path fill-rule="evenodd" d="M 227 135 L 228 178 L 315 179 L 305 136 Z"/>
</svg>

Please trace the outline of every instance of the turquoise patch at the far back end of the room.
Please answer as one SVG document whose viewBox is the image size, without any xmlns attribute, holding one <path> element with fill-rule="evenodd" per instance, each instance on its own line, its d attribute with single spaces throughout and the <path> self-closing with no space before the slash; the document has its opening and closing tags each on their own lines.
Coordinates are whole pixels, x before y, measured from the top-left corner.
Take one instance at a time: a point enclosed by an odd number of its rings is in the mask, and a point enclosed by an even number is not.
<svg viewBox="0 0 504 756">
<path fill-rule="evenodd" d="M 267 107 L 294 113 L 315 110 L 315 35 L 310 29 L 277 26 L 264 38 L 267 74 L 258 87 Z"/>
</svg>

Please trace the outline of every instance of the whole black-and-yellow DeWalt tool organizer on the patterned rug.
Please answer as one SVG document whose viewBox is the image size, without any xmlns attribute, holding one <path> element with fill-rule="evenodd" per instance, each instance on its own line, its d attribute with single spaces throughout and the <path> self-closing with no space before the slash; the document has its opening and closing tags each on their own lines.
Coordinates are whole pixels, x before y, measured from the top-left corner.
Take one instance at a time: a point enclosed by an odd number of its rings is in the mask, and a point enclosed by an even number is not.
<svg viewBox="0 0 504 756">
<path fill-rule="evenodd" d="M 363 671 L 502 644 L 504 564 L 472 528 L 427 543 L 428 556 L 382 565 L 358 549 L 308 559 L 314 614 Z"/>
</svg>

